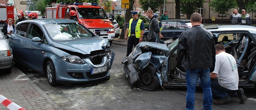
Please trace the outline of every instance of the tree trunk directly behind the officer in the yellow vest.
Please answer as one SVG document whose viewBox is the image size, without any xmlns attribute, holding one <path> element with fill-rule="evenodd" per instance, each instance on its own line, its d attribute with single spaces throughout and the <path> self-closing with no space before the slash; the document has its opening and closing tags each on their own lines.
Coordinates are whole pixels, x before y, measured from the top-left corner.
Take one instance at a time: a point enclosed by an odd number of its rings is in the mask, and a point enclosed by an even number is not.
<svg viewBox="0 0 256 110">
<path fill-rule="evenodd" d="M 120 35 L 119 39 L 124 39 L 124 37 L 125 37 L 125 31 L 126 31 L 126 26 L 127 26 L 126 23 L 129 23 L 130 19 L 132 19 L 132 12 L 131 11 L 133 11 L 134 1 L 135 0 L 130 0 L 129 9 L 126 9 L 126 11 L 125 11 L 125 21 L 124 21 L 124 25 L 123 25 L 123 28 L 122 28 L 121 35 Z"/>
</svg>

